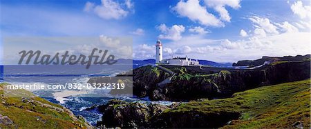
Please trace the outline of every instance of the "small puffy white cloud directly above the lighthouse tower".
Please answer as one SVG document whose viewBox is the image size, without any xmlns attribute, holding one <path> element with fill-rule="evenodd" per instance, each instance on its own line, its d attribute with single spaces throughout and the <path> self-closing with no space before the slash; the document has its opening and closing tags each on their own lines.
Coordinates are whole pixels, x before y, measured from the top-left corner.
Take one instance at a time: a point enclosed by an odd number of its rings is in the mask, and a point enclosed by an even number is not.
<svg viewBox="0 0 311 129">
<path fill-rule="evenodd" d="M 173 25 L 171 28 L 167 27 L 164 23 L 157 27 L 164 34 L 160 34 L 160 39 L 170 39 L 178 41 L 182 38 L 181 33 L 185 32 L 185 27 L 182 25 Z"/>
</svg>

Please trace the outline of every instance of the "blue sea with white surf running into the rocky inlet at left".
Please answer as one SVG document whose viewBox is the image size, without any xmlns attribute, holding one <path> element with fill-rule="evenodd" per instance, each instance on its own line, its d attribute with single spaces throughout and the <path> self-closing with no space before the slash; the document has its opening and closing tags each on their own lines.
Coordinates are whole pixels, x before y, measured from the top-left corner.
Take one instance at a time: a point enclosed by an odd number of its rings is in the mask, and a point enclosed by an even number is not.
<svg viewBox="0 0 311 129">
<path fill-rule="evenodd" d="M 136 66 L 134 66 L 136 67 Z M 122 65 L 95 65 L 86 69 L 85 66 L 4 66 L 1 79 L 10 84 L 34 84 L 44 85 L 65 85 L 65 83 L 82 83 L 86 85 L 91 77 L 113 77 L 118 73 L 129 70 L 133 66 Z M 110 90 L 103 90 L 105 97 L 87 97 L 90 90 L 32 90 L 35 95 L 43 97 L 48 101 L 60 104 L 75 115 L 82 115 L 86 121 L 96 125 L 97 121 L 102 119 L 102 114 L 97 108 L 86 110 L 90 107 L 100 106 L 107 103 L 112 97 L 109 97 Z M 87 92 L 86 92 L 87 91 Z M 98 93 L 98 91 L 96 91 Z M 133 97 L 124 97 L 121 99 L 131 99 Z M 133 101 L 135 98 L 133 98 Z"/>
</svg>

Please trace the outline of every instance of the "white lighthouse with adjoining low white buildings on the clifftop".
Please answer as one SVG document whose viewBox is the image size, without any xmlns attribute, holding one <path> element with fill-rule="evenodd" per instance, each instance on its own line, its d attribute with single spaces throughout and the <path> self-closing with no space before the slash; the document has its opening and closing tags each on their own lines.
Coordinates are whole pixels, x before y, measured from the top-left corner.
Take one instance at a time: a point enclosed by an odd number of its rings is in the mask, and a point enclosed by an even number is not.
<svg viewBox="0 0 311 129">
<path fill-rule="evenodd" d="M 162 43 L 160 40 L 156 43 L 156 63 L 166 64 L 172 66 L 198 66 L 198 60 L 192 60 L 186 57 L 175 57 L 173 59 L 163 59 L 162 57 Z"/>
</svg>

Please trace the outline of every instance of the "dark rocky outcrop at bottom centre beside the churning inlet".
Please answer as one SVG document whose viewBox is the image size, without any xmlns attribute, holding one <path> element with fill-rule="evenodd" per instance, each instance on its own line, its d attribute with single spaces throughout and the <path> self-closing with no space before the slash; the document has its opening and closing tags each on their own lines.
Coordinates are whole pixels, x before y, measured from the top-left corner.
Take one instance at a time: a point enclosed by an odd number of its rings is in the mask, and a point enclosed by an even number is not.
<svg viewBox="0 0 311 129">
<path fill-rule="evenodd" d="M 164 110 L 175 108 L 178 103 L 171 106 L 160 104 L 147 104 L 126 102 L 112 99 L 104 106 L 100 106 L 104 116 L 97 126 L 102 128 L 153 128 L 152 118 L 160 115 Z"/>
</svg>

